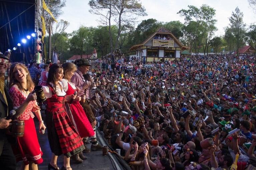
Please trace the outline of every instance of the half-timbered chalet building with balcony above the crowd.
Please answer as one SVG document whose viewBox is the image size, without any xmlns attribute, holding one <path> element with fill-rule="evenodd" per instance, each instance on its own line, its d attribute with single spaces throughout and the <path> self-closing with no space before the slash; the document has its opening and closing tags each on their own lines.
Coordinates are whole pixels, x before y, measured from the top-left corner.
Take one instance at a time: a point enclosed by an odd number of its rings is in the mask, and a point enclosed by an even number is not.
<svg viewBox="0 0 256 170">
<path fill-rule="evenodd" d="M 140 57 L 143 61 L 152 62 L 157 58 L 169 60 L 180 58 L 181 52 L 189 49 L 183 46 L 179 40 L 166 28 L 161 27 L 157 32 L 152 34 L 147 40 L 141 44 L 134 45 L 130 51 L 136 51 L 136 57 Z"/>
</svg>

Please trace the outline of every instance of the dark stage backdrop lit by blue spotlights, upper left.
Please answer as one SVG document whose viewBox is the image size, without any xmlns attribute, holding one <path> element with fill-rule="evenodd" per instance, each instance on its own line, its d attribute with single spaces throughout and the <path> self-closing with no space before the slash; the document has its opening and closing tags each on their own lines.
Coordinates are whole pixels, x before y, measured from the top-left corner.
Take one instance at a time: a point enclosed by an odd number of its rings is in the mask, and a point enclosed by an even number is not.
<svg viewBox="0 0 256 170">
<path fill-rule="evenodd" d="M 8 49 L 11 51 L 13 62 L 23 61 L 22 53 L 25 54 L 25 62 L 28 63 L 35 56 L 35 38 L 26 38 L 35 32 L 35 0 L 0 0 L 0 52 Z M 25 38 L 27 42 L 21 43 Z M 21 46 L 17 50 L 17 44 Z"/>
</svg>

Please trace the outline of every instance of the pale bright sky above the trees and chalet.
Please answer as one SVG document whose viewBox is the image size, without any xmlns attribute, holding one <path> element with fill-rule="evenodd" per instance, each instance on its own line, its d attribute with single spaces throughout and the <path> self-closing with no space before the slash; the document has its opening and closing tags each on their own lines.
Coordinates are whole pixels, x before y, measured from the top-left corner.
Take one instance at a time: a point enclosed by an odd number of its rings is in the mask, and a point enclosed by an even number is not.
<svg viewBox="0 0 256 170">
<path fill-rule="evenodd" d="M 58 20 L 63 19 L 70 23 L 66 32 L 71 33 L 73 30 L 77 30 L 80 25 L 86 27 L 96 27 L 100 25 L 98 23 L 99 16 L 89 13 L 89 0 L 66 0 L 66 6 L 62 8 L 63 14 Z M 142 5 L 145 7 L 148 16 L 138 17 L 138 23 L 142 20 L 154 18 L 161 22 L 169 21 L 181 21 L 184 23 L 184 19 L 177 14 L 181 9 L 188 9 L 188 5 L 194 5 L 200 7 L 203 4 L 207 4 L 216 10 L 217 20 L 216 27 L 218 31 L 216 36 L 224 35 L 224 27 L 229 25 L 229 17 L 232 11 L 238 6 L 240 11 L 243 12 L 243 21 L 247 25 L 256 22 L 256 14 L 253 9 L 250 8 L 247 0 L 141 0 Z"/>
</svg>

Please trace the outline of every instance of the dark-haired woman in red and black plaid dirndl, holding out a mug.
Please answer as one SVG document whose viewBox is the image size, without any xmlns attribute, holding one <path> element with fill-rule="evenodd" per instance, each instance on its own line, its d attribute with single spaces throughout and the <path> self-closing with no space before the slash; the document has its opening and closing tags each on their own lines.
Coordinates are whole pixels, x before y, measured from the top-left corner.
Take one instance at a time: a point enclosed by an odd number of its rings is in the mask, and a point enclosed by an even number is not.
<svg viewBox="0 0 256 170">
<path fill-rule="evenodd" d="M 63 78 L 63 68 L 59 64 L 50 66 L 47 85 L 43 86 L 47 98 L 46 127 L 48 140 L 52 151 L 48 169 L 59 169 L 57 157 L 64 154 L 64 165 L 61 170 L 71 170 L 70 157 L 81 152 L 85 147 L 82 139 L 65 111 L 65 100 L 75 99 L 76 95 L 66 95 L 60 81 Z"/>
</svg>

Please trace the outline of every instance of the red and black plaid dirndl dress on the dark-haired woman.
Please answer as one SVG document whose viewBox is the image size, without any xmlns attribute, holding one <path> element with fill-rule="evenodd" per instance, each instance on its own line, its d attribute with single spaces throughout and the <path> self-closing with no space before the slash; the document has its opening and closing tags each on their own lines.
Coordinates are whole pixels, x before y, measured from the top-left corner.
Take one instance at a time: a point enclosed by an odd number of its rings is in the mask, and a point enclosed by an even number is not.
<svg viewBox="0 0 256 170">
<path fill-rule="evenodd" d="M 66 96 L 58 96 L 50 85 L 48 87 L 52 96 L 46 100 L 45 122 L 50 148 L 52 153 L 57 156 L 64 154 L 71 157 L 85 147 L 64 109 Z"/>
</svg>

